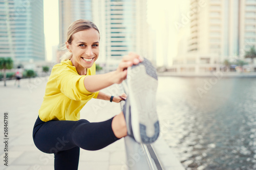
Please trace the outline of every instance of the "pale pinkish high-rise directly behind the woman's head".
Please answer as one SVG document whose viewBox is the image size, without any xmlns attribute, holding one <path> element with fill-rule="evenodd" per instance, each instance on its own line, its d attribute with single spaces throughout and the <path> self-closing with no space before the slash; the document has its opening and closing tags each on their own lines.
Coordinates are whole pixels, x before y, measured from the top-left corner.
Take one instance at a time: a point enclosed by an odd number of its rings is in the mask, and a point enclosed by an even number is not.
<svg viewBox="0 0 256 170">
<path fill-rule="evenodd" d="M 69 25 L 78 19 L 92 20 L 92 0 L 59 0 L 59 43 L 66 42 Z"/>
</svg>

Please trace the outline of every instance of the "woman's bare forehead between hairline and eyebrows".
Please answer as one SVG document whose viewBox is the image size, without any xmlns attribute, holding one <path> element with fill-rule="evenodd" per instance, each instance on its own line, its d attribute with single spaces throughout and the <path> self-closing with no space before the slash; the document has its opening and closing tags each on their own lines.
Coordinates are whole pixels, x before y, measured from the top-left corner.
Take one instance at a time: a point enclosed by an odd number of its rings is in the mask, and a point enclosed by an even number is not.
<svg viewBox="0 0 256 170">
<path fill-rule="evenodd" d="M 73 34 L 73 41 L 76 42 L 97 42 L 99 41 L 99 33 L 97 30 L 91 28 L 89 30 L 79 31 Z"/>
</svg>

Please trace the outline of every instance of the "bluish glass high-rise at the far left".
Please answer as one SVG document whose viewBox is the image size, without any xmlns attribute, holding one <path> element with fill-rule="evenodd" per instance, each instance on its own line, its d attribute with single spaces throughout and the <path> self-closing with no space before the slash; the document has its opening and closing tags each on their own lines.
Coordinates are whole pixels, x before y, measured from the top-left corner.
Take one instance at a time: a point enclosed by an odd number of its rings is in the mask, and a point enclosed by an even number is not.
<svg viewBox="0 0 256 170">
<path fill-rule="evenodd" d="M 0 57 L 14 62 L 45 60 L 42 1 L 0 2 Z"/>
</svg>

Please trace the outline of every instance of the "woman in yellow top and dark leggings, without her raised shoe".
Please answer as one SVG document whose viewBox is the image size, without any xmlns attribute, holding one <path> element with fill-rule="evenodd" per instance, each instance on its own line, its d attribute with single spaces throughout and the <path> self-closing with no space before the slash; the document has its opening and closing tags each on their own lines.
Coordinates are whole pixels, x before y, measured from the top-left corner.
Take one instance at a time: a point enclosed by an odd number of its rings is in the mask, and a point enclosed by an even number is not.
<svg viewBox="0 0 256 170">
<path fill-rule="evenodd" d="M 125 94 L 110 96 L 99 90 L 126 79 L 127 68 L 143 59 L 130 53 L 115 71 L 95 75 L 100 35 L 88 20 L 73 22 L 66 46 L 71 53 L 52 68 L 44 101 L 33 129 L 36 147 L 55 155 L 55 169 L 77 169 L 79 149 L 99 150 L 127 135 L 123 113 L 99 123 L 80 119 L 79 111 L 92 98 L 119 103 Z"/>
</svg>

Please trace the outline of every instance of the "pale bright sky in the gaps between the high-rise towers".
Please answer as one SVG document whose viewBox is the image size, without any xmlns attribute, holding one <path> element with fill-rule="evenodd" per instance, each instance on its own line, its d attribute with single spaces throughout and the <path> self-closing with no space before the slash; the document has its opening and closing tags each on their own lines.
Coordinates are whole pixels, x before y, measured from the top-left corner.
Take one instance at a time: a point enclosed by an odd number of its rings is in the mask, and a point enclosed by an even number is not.
<svg viewBox="0 0 256 170">
<path fill-rule="evenodd" d="M 168 54 L 168 61 L 159 57 L 157 65 L 165 62 L 172 63 L 172 57 L 177 54 L 177 35 L 179 30 L 174 23 L 179 22 L 186 14 L 189 0 L 148 0 L 148 23 L 156 30 L 157 56 Z M 46 56 L 52 58 L 52 46 L 59 43 L 58 0 L 44 1 L 44 29 Z"/>
</svg>

